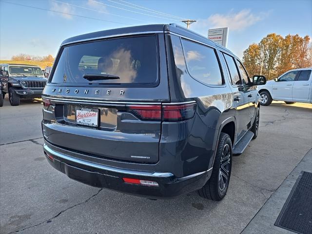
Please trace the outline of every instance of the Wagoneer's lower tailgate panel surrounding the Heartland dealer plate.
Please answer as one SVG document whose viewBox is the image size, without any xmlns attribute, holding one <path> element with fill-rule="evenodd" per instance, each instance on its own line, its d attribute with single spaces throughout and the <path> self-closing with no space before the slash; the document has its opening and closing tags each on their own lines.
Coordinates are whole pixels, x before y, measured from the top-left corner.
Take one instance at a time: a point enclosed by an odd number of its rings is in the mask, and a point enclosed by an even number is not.
<svg viewBox="0 0 312 234">
<path fill-rule="evenodd" d="M 125 104 L 55 104 L 43 113 L 43 135 L 54 145 L 100 158 L 158 161 L 161 121 L 141 120 Z"/>
</svg>

